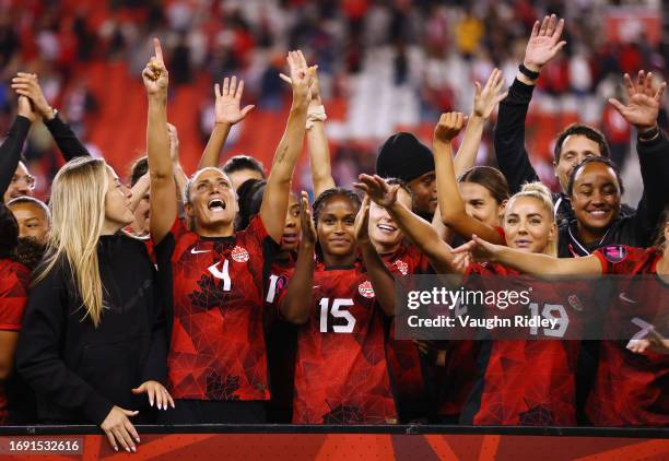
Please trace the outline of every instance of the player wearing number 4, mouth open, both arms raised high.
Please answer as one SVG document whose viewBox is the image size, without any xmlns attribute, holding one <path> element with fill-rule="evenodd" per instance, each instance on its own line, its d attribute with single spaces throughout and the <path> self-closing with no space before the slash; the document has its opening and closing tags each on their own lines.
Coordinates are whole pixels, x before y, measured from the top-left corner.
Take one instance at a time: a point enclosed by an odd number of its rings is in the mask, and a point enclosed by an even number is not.
<svg viewBox="0 0 669 461">
<path fill-rule="evenodd" d="M 168 387 L 177 399 L 166 423 L 262 423 L 270 397 L 263 339 L 265 282 L 281 240 L 300 155 L 310 80 L 300 51 L 289 54 L 293 104 L 258 216 L 235 233 L 237 200 L 219 168 L 197 172 L 177 216 L 166 123 L 167 70 L 160 42 L 142 76 L 149 98 L 151 238 L 173 312 Z"/>
</svg>

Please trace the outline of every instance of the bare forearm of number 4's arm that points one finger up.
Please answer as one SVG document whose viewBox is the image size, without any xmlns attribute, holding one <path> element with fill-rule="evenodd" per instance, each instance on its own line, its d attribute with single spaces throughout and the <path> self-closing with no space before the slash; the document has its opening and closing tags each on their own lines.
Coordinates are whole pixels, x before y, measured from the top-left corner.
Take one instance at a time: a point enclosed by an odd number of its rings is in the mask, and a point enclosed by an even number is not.
<svg viewBox="0 0 669 461">
<path fill-rule="evenodd" d="M 174 173 L 172 158 L 169 157 L 169 135 L 167 133 L 167 101 L 162 95 L 149 96 L 146 154 L 152 180 L 172 180 Z"/>
</svg>

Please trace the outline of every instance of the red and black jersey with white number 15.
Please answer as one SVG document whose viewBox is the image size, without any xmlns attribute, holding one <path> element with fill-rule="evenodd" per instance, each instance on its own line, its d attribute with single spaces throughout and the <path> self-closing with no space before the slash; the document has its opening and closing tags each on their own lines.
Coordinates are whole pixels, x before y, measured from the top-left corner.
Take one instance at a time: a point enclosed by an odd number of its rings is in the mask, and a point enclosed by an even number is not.
<svg viewBox="0 0 669 461">
<path fill-rule="evenodd" d="M 396 422 L 372 283 L 360 265 L 317 269 L 312 314 L 297 333 L 293 423 Z"/>
</svg>

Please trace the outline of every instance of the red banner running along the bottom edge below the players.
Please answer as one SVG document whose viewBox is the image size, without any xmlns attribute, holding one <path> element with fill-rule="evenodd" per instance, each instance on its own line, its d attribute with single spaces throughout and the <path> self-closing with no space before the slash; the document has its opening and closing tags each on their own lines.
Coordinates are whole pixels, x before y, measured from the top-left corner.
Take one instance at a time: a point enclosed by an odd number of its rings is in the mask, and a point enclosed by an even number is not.
<svg viewBox="0 0 669 461">
<path fill-rule="evenodd" d="M 101 435 L 2 436 L 0 454 L 7 460 L 136 461 L 669 459 L 669 440 L 649 438 L 459 434 L 144 434 L 140 437 L 137 452 L 126 453 L 111 450 L 106 437 Z"/>
</svg>

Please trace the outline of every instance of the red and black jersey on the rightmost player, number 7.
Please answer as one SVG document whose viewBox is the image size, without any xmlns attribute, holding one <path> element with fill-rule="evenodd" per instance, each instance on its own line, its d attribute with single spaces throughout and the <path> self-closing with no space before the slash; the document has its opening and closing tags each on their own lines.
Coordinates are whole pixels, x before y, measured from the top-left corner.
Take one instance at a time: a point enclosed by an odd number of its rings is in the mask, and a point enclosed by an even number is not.
<svg viewBox="0 0 669 461">
<path fill-rule="evenodd" d="M 654 323 L 660 308 L 666 315 L 669 285 L 657 276 L 660 251 L 617 245 L 594 255 L 599 258 L 603 274 L 647 275 L 615 281 L 617 289 L 605 322 L 609 338 L 621 338 L 619 331 L 625 328 L 626 338 L 631 339 L 644 328 L 644 322 Z M 627 342 L 601 342 L 597 378 L 586 414 L 598 426 L 667 426 L 669 356 L 653 351 L 635 354 L 626 348 Z"/>
</svg>

